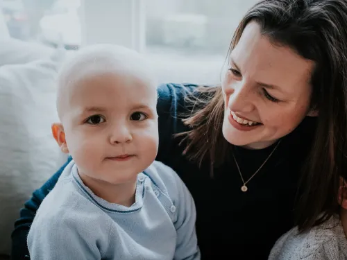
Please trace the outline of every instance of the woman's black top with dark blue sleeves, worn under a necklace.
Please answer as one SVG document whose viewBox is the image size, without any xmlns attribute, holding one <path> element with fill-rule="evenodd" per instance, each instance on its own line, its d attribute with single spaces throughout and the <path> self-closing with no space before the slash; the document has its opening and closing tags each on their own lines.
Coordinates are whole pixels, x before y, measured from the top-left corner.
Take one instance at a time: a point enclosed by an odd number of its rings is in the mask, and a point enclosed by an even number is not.
<svg viewBox="0 0 347 260">
<path fill-rule="evenodd" d="M 214 168 L 198 168 L 182 155 L 180 139 L 174 133 L 187 130 L 182 112 L 186 106 L 185 87 L 195 85 L 161 85 L 159 87 L 160 146 L 157 159 L 183 179 L 196 203 L 196 232 L 202 259 L 267 259 L 271 247 L 294 225 L 294 198 L 298 177 L 311 146 L 316 120 L 306 118 L 291 134 L 284 137 L 262 170 L 241 191 L 242 180 L 233 159 Z M 248 180 L 273 150 L 247 150 L 235 147 L 235 157 L 242 175 Z M 208 163 L 208 162 L 206 162 Z M 207 165 L 207 164 L 206 164 Z M 53 189 L 63 166 L 26 202 L 12 233 L 12 259 L 25 259 L 26 236 L 35 211 Z"/>
</svg>

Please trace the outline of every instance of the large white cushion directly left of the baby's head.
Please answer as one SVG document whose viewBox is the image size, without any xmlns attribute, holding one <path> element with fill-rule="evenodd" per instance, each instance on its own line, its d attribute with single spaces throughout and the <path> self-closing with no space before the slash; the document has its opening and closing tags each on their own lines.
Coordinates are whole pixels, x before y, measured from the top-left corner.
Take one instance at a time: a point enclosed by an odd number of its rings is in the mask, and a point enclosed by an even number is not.
<svg viewBox="0 0 347 260">
<path fill-rule="evenodd" d="M 57 169 L 60 151 L 51 135 L 56 76 L 65 51 L 26 64 L 0 67 L 0 254 L 10 252 L 19 209 Z"/>
</svg>

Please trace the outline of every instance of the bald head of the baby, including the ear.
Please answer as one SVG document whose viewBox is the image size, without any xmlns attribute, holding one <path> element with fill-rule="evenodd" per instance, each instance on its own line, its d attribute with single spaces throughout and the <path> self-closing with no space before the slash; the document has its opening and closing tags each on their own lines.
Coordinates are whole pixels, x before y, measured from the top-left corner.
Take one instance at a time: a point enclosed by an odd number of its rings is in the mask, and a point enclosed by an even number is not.
<svg viewBox="0 0 347 260">
<path fill-rule="evenodd" d="M 139 53 L 88 46 L 60 71 L 53 136 L 80 174 L 112 184 L 133 181 L 157 155 L 156 105 L 155 80 Z"/>
</svg>

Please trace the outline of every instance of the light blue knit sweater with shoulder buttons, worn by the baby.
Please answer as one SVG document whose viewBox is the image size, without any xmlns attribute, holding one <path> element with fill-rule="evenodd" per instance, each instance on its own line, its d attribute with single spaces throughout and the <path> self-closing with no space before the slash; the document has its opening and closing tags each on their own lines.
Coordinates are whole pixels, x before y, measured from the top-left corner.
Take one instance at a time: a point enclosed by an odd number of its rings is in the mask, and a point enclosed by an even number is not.
<svg viewBox="0 0 347 260">
<path fill-rule="evenodd" d="M 138 175 L 124 207 L 95 196 L 72 161 L 40 205 L 28 249 L 35 260 L 200 259 L 195 220 L 185 184 L 160 162 Z"/>
</svg>

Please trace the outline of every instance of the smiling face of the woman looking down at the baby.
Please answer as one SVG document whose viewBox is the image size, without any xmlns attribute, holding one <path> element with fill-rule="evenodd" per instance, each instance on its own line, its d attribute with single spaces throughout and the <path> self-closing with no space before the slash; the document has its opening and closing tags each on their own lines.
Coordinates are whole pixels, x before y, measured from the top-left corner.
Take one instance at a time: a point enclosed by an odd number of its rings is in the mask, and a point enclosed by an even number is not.
<svg viewBox="0 0 347 260">
<path fill-rule="evenodd" d="M 236 146 L 261 149 L 293 131 L 310 112 L 314 62 L 262 36 L 249 23 L 222 80 L 223 135 Z"/>
</svg>

